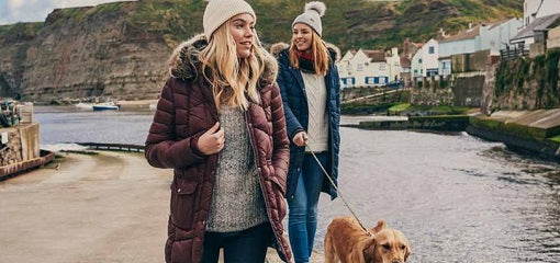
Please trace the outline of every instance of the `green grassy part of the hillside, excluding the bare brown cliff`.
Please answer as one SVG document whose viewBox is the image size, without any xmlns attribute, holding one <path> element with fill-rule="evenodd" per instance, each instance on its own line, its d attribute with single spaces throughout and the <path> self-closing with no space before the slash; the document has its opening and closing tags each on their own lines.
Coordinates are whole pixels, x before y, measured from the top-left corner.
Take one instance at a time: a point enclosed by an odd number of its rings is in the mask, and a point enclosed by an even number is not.
<svg viewBox="0 0 560 263">
<path fill-rule="evenodd" d="M 289 41 L 291 23 L 306 1 L 248 0 L 256 10 L 257 30 L 265 43 Z M 469 23 L 497 21 L 523 15 L 522 0 L 324 0 L 323 35 L 343 49 L 351 46 L 382 48 L 401 44 L 406 37 L 427 41 L 443 27 L 458 32 Z M 161 32 L 175 42 L 201 32 L 203 0 L 143 1 L 131 21 L 149 31 Z"/>
</svg>

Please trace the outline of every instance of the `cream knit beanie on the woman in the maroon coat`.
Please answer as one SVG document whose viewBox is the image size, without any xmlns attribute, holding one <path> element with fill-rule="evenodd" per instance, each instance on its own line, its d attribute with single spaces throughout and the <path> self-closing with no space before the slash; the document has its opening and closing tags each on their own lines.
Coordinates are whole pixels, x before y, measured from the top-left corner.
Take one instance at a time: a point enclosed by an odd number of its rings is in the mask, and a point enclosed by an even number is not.
<svg viewBox="0 0 560 263">
<path fill-rule="evenodd" d="M 210 41 L 214 31 L 223 23 L 242 13 L 253 15 L 256 22 L 257 15 L 255 15 L 255 11 L 253 11 L 249 3 L 244 0 L 210 0 L 202 19 L 202 26 L 204 27 L 206 39 Z"/>
</svg>

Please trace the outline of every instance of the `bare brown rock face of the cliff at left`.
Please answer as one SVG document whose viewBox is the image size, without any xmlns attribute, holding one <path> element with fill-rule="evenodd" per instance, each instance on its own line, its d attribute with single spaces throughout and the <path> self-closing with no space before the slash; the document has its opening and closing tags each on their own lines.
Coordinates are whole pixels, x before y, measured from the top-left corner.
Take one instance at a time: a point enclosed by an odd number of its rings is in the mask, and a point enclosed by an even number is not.
<svg viewBox="0 0 560 263">
<path fill-rule="evenodd" d="M 134 8 L 126 3 L 114 11 L 51 13 L 27 49 L 22 99 L 48 103 L 156 98 L 170 48 L 159 35 L 126 22 L 125 12 Z"/>
</svg>

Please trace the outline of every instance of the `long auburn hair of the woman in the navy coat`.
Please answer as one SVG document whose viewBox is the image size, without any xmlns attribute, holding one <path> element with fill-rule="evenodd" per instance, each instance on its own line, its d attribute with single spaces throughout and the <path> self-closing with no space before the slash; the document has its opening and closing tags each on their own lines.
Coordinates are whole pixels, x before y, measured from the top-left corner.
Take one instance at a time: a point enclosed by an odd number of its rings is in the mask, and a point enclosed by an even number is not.
<svg viewBox="0 0 560 263">
<path fill-rule="evenodd" d="M 328 49 L 326 47 L 326 43 L 321 38 L 321 36 L 315 33 L 315 31 L 311 31 L 313 34 L 311 41 L 311 56 L 313 57 L 313 66 L 315 67 L 315 75 L 326 76 L 328 70 L 328 60 L 331 57 L 328 56 Z M 300 68 L 300 59 L 298 57 L 298 47 L 292 39 L 290 44 L 290 62 L 292 67 L 299 69 Z"/>
</svg>

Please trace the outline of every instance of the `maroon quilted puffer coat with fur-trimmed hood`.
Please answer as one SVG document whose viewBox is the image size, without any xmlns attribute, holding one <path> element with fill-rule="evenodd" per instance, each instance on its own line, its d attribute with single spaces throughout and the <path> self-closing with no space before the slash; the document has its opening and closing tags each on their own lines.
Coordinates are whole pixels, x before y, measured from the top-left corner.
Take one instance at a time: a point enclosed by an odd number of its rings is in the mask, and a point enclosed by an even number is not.
<svg viewBox="0 0 560 263">
<path fill-rule="evenodd" d="M 205 222 L 212 202 L 217 155 L 203 156 L 198 138 L 217 121 L 212 91 L 200 76 L 198 52 L 208 45 L 203 36 L 183 43 L 173 55 L 171 77 L 146 140 L 146 159 L 157 168 L 175 169 L 171 183 L 171 214 L 168 224 L 166 262 L 195 263 L 202 258 Z M 265 52 L 265 50 L 264 50 Z M 259 79 L 260 102 L 250 102 L 245 113 L 264 191 L 268 218 L 275 232 L 271 240 L 280 256 L 293 262 L 283 236 L 287 213 L 285 176 L 289 140 L 282 100 L 275 83 L 277 62 L 270 57 Z"/>
</svg>

